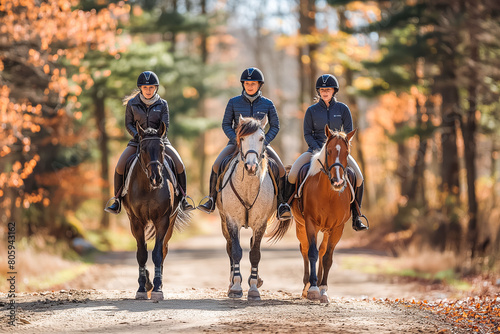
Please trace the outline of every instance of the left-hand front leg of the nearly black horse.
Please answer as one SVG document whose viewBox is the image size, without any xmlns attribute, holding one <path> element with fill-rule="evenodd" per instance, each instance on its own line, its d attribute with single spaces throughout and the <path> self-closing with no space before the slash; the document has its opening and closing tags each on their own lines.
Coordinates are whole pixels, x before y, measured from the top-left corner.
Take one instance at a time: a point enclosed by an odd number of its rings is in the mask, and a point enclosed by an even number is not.
<svg viewBox="0 0 500 334">
<path fill-rule="evenodd" d="M 146 269 L 146 262 L 148 260 L 148 249 L 146 239 L 144 237 L 144 225 L 141 224 L 139 219 L 129 216 L 130 229 L 132 235 L 137 243 L 137 263 L 139 264 L 139 289 L 135 294 L 135 299 L 148 299 L 148 291 L 151 290 L 152 285 L 149 280 L 149 271 Z"/>
</svg>

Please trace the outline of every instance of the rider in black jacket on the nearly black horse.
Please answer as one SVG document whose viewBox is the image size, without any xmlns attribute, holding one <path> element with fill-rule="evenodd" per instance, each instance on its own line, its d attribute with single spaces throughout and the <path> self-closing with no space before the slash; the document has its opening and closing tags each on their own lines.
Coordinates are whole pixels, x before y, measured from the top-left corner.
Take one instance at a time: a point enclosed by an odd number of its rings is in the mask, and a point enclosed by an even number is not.
<svg viewBox="0 0 500 334">
<path fill-rule="evenodd" d="M 116 165 L 114 177 L 115 196 L 112 198 L 114 202 L 104 209 L 106 212 L 118 214 L 121 211 L 121 193 L 124 183 L 123 174 L 125 172 L 125 164 L 127 163 L 127 159 L 137 152 L 137 147 L 139 146 L 139 134 L 137 133 L 136 122 L 139 122 L 143 129 L 158 129 L 163 121 L 167 126 L 168 132 L 168 104 L 166 100 L 158 95 L 159 86 L 160 81 L 158 76 L 154 72 L 144 71 L 137 78 L 138 89 L 124 99 L 124 104 L 126 103 L 127 106 L 125 111 L 125 127 L 133 139 L 129 141 L 127 148 L 123 151 Z M 186 172 L 184 163 L 179 153 L 170 144 L 167 132 L 163 137 L 163 144 L 165 145 L 165 153 L 174 161 L 177 181 L 183 191 L 181 207 L 183 211 L 191 211 L 195 208 L 186 200 Z"/>
</svg>

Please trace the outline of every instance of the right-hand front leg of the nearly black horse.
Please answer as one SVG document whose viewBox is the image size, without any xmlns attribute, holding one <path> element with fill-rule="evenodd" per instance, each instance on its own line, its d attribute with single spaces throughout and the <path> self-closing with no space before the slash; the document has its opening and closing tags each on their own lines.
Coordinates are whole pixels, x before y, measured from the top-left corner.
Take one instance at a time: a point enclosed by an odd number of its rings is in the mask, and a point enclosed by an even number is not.
<svg viewBox="0 0 500 334">
<path fill-rule="evenodd" d="M 155 224 L 156 239 L 153 248 L 153 263 L 155 264 L 155 278 L 153 279 L 153 291 L 151 291 L 152 300 L 163 300 L 163 261 L 167 255 L 165 252 L 165 237 L 169 229 L 168 217 L 162 217 L 159 223 Z"/>
</svg>

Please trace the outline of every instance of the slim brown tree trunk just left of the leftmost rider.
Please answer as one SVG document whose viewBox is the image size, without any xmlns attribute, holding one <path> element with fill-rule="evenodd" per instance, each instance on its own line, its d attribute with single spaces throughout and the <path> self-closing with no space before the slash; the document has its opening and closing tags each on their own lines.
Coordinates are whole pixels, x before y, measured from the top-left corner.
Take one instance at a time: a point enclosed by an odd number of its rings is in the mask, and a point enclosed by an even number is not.
<svg viewBox="0 0 500 334">
<path fill-rule="evenodd" d="M 108 150 L 108 134 L 106 133 L 106 114 L 105 114 L 105 97 L 100 85 L 96 82 L 92 89 L 92 100 L 94 103 L 94 118 L 99 133 L 99 151 L 101 152 L 101 179 L 109 180 L 109 150 Z M 102 203 L 106 203 L 109 197 L 109 182 L 104 182 L 101 189 Z M 109 215 L 102 211 L 101 227 L 109 227 Z"/>
</svg>

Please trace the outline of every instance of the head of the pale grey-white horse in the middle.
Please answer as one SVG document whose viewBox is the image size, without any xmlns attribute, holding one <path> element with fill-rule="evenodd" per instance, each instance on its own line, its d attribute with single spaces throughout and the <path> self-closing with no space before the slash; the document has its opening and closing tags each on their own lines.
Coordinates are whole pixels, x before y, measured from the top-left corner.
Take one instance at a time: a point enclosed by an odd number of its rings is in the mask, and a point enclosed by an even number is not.
<svg viewBox="0 0 500 334">
<path fill-rule="evenodd" d="M 264 127 L 266 125 L 267 115 L 262 120 L 240 115 L 236 129 L 236 141 L 241 161 L 245 163 L 245 170 L 249 175 L 257 174 L 264 158 L 266 149 Z"/>
</svg>

